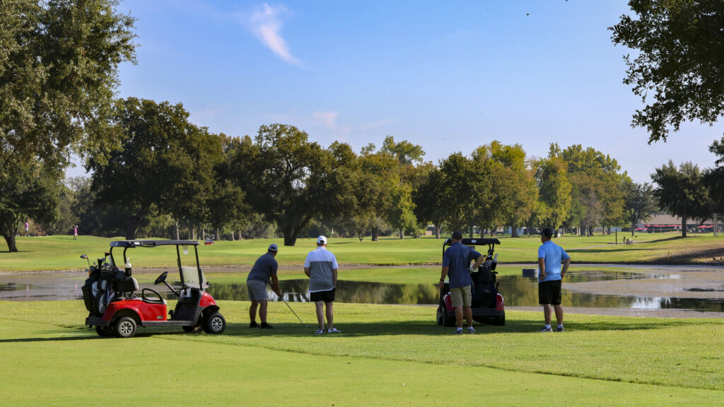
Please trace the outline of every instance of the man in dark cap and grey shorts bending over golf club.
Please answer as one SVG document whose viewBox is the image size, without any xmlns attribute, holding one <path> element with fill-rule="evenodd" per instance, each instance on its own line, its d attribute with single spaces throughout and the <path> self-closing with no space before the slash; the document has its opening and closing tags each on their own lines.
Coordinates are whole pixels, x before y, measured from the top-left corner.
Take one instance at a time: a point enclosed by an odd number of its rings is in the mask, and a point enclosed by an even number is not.
<svg viewBox="0 0 724 407">
<path fill-rule="evenodd" d="M 251 306 L 249 307 L 249 327 L 250 328 L 261 328 L 264 330 L 271 329 L 271 325 L 266 323 L 266 285 L 271 284 L 271 289 L 274 293 L 277 293 L 279 297 L 282 296 L 282 290 L 279 290 L 279 279 L 277 278 L 277 251 L 279 248 L 274 243 L 269 245 L 266 250 L 266 254 L 261 255 L 256 262 L 254 267 L 251 268 L 248 277 L 246 277 L 246 289 L 249 292 L 249 299 L 251 300 Z M 259 308 L 259 318 L 261 319 L 261 325 L 256 323 L 256 307 Z"/>
</svg>

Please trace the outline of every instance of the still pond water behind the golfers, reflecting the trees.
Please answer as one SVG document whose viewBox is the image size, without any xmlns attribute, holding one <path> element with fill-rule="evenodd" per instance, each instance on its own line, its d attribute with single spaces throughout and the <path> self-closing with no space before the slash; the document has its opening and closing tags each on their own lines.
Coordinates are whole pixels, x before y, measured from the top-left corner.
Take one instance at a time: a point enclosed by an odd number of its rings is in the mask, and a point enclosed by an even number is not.
<svg viewBox="0 0 724 407">
<path fill-rule="evenodd" d="M 582 271 L 569 272 L 563 285 L 563 305 L 586 308 L 628 309 L 688 309 L 724 312 L 724 298 L 646 297 L 638 295 L 600 295 L 565 289 L 565 282 L 602 280 L 678 279 L 678 274 L 636 272 Z M 43 276 L 0 276 L 0 300 L 54 301 L 82 298 L 80 287 L 84 274 L 54 274 Z M 538 306 L 538 284 L 535 279 L 521 276 L 498 277 L 500 293 L 506 306 Z M 285 301 L 309 301 L 308 280 L 280 282 Z M 695 291 L 696 289 L 691 289 Z M 164 294 L 167 289 L 159 289 Z M 248 301 L 245 284 L 214 284 L 209 293 L 217 300 Z M 167 293 L 171 295 L 171 293 Z M 276 295 L 269 292 L 270 299 Z M 380 282 L 337 282 L 337 301 L 342 303 L 376 304 L 437 304 L 436 285 L 386 284 Z M 724 297 L 724 295 L 723 295 Z M 169 297 L 170 298 L 170 297 Z"/>
</svg>

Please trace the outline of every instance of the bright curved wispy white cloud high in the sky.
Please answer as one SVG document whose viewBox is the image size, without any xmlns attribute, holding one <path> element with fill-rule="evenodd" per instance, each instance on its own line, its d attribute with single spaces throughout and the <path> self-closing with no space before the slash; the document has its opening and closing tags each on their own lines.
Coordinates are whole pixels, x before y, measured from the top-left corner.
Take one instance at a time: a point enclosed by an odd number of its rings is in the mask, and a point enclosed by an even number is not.
<svg viewBox="0 0 724 407">
<path fill-rule="evenodd" d="M 283 4 L 272 7 L 264 3 L 256 12 L 251 14 L 248 19 L 248 27 L 259 38 L 259 41 L 271 49 L 274 54 L 277 54 L 279 58 L 290 64 L 300 65 L 299 60 L 289 51 L 287 41 L 282 37 L 284 18 L 287 14 L 289 12 Z"/>
</svg>

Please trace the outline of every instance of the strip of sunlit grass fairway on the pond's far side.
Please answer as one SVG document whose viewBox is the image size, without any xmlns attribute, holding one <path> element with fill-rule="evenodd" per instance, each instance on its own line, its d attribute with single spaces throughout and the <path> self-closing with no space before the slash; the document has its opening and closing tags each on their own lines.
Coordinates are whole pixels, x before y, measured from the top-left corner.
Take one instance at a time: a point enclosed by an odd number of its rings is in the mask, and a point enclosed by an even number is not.
<svg viewBox="0 0 724 407">
<path fill-rule="evenodd" d="M 19 253 L 8 253 L 7 246 L 0 243 L 0 271 L 2 270 L 49 270 L 83 269 L 85 261 L 81 254 L 90 259 L 102 257 L 109 250 L 108 238 L 80 236 L 48 236 L 41 238 L 17 238 Z M 563 246 L 574 263 L 669 263 L 712 261 L 724 256 L 724 238 L 709 235 L 695 235 L 678 238 L 675 233 L 641 234 L 633 246 L 613 244 L 614 235 L 595 235 L 590 238 L 563 236 L 555 242 Z M 337 256 L 340 264 L 439 264 L 442 259 L 442 239 L 395 239 L 382 238 L 377 242 L 369 239 L 360 243 L 357 239 L 331 239 L 329 250 Z M 505 263 L 534 263 L 540 239 L 537 237 L 500 238 L 497 246 L 499 260 Z M 281 265 L 303 264 L 309 251 L 316 247 L 316 240 L 297 240 L 293 247 L 282 246 L 281 239 L 255 239 L 220 241 L 215 245 L 199 246 L 202 267 L 248 266 L 266 252 L 270 243 L 279 245 L 277 260 Z M 482 246 L 481 251 L 487 250 Z M 122 251 L 114 253 L 121 258 Z M 134 267 L 173 267 L 176 264 L 173 248 L 134 248 L 128 252 Z M 184 261 L 194 261 L 193 248 Z M 720 261 L 721 262 L 721 261 Z"/>
</svg>

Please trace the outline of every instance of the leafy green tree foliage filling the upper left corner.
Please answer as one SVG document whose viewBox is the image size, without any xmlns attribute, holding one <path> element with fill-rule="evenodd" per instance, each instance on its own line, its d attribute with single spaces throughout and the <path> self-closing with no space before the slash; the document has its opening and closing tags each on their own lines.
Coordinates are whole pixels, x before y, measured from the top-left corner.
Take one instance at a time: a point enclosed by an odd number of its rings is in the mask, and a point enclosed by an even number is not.
<svg viewBox="0 0 724 407">
<path fill-rule="evenodd" d="M 58 168 L 72 149 L 98 151 L 118 65 L 135 62 L 134 19 L 117 4 L 1 2 L 0 173 L 12 157 Z"/>
</svg>

